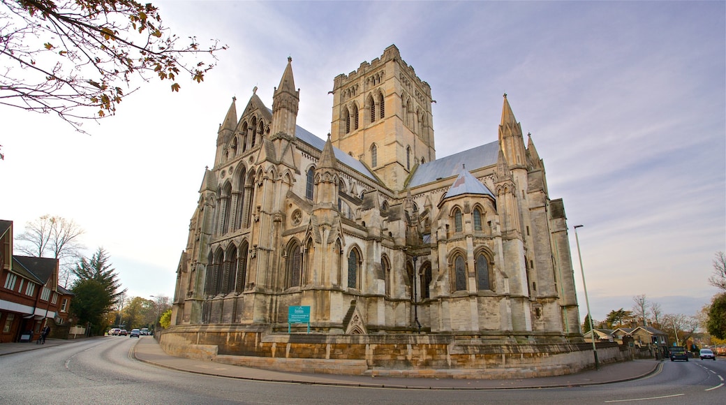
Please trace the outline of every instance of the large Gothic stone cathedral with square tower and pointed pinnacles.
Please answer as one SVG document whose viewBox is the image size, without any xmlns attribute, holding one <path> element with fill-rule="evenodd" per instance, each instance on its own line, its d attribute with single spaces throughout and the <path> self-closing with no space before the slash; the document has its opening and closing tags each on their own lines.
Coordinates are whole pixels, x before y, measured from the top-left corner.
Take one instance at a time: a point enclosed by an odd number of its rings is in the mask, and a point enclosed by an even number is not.
<svg viewBox="0 0 726 405">
<path fill-rule="evenodd" d="M 233 100 L 189 223 L 166 348 L 195 340 L 274 358 L 265 339 L 306 331 L 287 324 L 290 306 L 310 307 L 308 344 L 582 342 L 563 202 L 506 94 L 499 128 L 466 135 L 489 143 L 436 158 L 431 87 L 396 46 L 335 77 L 331 93 L 325 140 L 296 124 L 290 58 L 272 109 L 256 91 L 240 113 Z"/>
</svg>

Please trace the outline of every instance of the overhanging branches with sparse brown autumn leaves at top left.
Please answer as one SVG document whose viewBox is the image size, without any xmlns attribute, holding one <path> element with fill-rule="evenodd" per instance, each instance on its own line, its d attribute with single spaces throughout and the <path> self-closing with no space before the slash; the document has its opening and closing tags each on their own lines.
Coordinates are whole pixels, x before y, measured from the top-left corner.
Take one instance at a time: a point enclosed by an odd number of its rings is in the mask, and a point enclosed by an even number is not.
<svg viewBox="0 0 726 405">
<path fill-rule="evenodd" d="M 200 48 L 170 33 L 157 7 L 135 0 L 0 0 L 0 104 L 81 120 L 115 113 L 132 78 L 200 83 L 214 67 L 214 41 Z M 193 57 L 189 59 L 190 57 Z M 199 60 L 211 58 L 211 62 Z"/>
</svg>

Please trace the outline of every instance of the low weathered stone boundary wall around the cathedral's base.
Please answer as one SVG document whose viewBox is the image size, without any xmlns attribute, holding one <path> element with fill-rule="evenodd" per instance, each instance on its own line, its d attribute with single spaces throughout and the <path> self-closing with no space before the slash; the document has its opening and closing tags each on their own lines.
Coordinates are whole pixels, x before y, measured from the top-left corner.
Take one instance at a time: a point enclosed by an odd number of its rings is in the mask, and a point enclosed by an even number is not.
<svg viewBox="0 0 726 405">
<path fill-rule="evenodd" d="M 589 343 L 492 343 L 460 335 L 270 334 L 267 327 L 176 326 L 160 335 L 172 356 L 288 372 L 454 378 L 548 377 L 594 367 Z M 600 343 L 601 363 L 630 360 Z"/>
</svg>

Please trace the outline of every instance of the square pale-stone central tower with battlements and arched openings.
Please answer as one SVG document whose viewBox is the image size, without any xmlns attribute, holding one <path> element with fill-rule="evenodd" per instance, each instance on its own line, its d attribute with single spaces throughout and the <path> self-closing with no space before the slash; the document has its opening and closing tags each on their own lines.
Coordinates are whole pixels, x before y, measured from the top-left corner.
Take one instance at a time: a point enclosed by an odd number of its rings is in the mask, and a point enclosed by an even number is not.
<svg viewBox="0 0 726 405">
<path fill-rule="evenodd" d="M 383 56 L 333 83 L 330 140 L 399 191 L 420 163 L 436 159 L 431 87 L 388 46 Z"/>
</svg>

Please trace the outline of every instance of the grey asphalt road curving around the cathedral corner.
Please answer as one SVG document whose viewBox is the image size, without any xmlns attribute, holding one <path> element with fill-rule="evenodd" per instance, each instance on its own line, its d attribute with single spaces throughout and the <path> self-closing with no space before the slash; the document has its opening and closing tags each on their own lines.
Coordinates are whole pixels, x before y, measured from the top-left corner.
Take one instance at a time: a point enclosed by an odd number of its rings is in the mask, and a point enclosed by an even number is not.
<svg viewBox="0 0 726 405">
<path fill-rule="evenodd" d="M 151 339 L 152 337 L 142 337 Z M 573 388 L 403 390 L 233 380 L 155 367 L 136 339 L 0 356 L 0 404 L 724 404 L 726 360 L 665 361 L 642 380 Z"/>
</svg>

